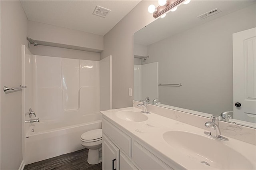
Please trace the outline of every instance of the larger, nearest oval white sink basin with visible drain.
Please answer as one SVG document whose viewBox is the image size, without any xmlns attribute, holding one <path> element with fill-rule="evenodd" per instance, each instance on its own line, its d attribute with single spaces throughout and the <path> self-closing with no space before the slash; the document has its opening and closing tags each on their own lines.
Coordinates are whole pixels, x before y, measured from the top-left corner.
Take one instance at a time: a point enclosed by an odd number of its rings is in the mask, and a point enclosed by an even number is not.
<svg viewBox="0 0 256 170">
<path fill-rule="evenodd" d="M 182 154 L 216 169 L 254 169 L 252 163 L 225 142 L 185 131 L 168 131 L 164 140 Z"/>
</svg>

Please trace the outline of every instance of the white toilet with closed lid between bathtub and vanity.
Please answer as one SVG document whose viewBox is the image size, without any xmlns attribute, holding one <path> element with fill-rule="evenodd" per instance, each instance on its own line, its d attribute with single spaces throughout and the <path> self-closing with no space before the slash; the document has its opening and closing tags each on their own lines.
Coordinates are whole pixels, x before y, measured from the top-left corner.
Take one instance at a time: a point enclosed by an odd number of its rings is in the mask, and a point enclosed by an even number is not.
<svg viewBox="0 0 256 170">
<path fill-rule="evenodd" d="M 102 162 L 102 129 L 95 129 L 81 135 L 81 144 L 89 149 L 87 162 L 95 165 Z"/>
</svg>

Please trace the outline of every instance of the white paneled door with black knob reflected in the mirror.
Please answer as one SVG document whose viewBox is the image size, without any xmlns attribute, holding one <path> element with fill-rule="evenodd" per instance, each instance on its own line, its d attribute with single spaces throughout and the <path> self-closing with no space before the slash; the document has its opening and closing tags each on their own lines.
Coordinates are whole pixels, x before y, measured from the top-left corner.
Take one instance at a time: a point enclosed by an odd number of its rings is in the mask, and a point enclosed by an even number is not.
<svg viewBox="0 0 256 170">
<path fill-rule="evenodd" d="M 256 28 L 233 34 L 234 119 L 256 123 Z"/>
</svg>

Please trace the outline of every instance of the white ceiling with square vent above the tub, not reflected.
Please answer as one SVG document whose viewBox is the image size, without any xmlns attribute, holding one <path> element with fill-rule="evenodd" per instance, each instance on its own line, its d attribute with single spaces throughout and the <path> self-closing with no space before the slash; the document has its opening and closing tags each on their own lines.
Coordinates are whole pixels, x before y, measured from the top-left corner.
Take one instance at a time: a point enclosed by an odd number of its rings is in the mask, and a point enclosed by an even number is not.
<svg viewBox="0 0 256 170">
<path fill-rule="evenodd" d="M 104 36 L 141 0 L 21 0 L 28 20 Z M 110 9 L 95 16 L 96 6 Z"/>
</svg>

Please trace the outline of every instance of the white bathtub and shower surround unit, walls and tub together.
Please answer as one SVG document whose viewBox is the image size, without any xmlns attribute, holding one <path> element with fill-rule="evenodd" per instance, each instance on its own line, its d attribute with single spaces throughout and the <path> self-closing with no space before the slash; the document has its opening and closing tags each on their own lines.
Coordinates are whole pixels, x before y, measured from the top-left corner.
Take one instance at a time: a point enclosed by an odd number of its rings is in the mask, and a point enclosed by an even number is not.
<svg viewBox="0 0 256 170">
<path fill-rule="evenodd" d="M 24 47 L 26 48 L 26 47 Z M 24 49 L 22 111 L 39 123 L 24 123 L 24 163 L 82 149 L 80 135 L 101 128 L 100 61 L 32 55 Z M 31 119 L 35 119 L 32 115 Z"/>
</svg>

